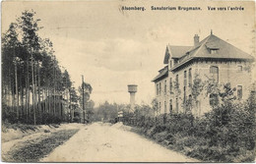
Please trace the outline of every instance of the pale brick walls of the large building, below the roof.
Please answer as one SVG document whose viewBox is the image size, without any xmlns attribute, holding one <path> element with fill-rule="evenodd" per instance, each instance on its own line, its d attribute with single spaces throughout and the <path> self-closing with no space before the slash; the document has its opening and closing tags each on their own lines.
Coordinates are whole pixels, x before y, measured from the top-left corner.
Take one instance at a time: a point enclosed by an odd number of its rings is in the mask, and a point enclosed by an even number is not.
<svg viewBox="0 0 256 164">
<path fill-rule="evenodd" d="M 171 60 L 171 59 L 170 59 Z M 168 64 L 169 65 L 169 64 Z M 238 85 L 242 86 L 242 99 L 247 99 L 249 95 L 249 88 L 251 85 L 251 73 L 247 71 L 250 63 L 248 62 L 235 62 L 235 61 L 213 61 L 213 62 L 193 62 L 186 67 L 171 72 L 169 70 L 168 77 L 156 82 L 156 98 L 160 103 L 160 114 L 169 113 L 170 111 L 170 101 L 172 101 L 172 111 L 174 112 L 184 112 L 183 108 L 183 100 L 184 100 L 184 72 L 186 71 L 186 97 L 188 98 L 189 94 L 191 94 L 191 87 L 188 85 L 189 83 L 189 69 L 191 69 L 192 74 L 192 82 L 195 76 L 198 74 L 199 79 L 203 82 L 208 81 L 208 78 L 211 78 L 210 67 L 215 66 L 219 68 L 219 83 L 225 84 L 230 82 L 231 87 L 237 87 Z M 172 66 L 173 67 L 173 66 Z M 240 71 L 240 67 L 242 70 Z M 177 91 L 174 88 L 174 84 L 176 81 L 176 75 L 178 75 L 179 82 L 179 90 Z M 207 78 L 208 77 L 208 78 Z M 172 80 L 172 90 L 173 93 L 170 92 L 170 79 Z M 164 92 L 164 83 L 166 82 L 166 92 Z M 160 84 L 161 83 L 161 84 Z M 158 90 L 157 86 L 161 85 L 160 93 L 157 95 Z M 237 95 L 237 91 L 234 92 L 234 95 Z M 194 104 L 197 108 L 193 108 L 192 113 L 196 116 L 202 116 L 204 113 L 209 112 L 212 108 L 210 106 L 210 95 L 207 95 L 205 91 L 202 91 L 201 95 L 198 97 L 198 104 Z M 178 101 L 178 110 L 176 109 L 176 100 Z M 166 108 L 164 107 L 166 104 Z M 165 110 L 164 110 L 165 108 Z"/>
</svg>

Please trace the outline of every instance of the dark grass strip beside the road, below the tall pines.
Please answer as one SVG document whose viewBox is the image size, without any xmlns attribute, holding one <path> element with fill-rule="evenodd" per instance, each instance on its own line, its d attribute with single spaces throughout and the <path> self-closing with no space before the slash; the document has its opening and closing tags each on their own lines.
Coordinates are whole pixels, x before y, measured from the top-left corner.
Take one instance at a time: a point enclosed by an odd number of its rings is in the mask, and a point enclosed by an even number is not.
<svg viewBox="0 0 256 164">
<path fill-rule="evenodd" d="M 49 154 L 55 147 L 63 144 L 70 137 L 74 136 L 79 130 L 61 130 L 52 133 L 48 137 L 36 138 L 29 140 L 24 146 L 19 149 L 9 152 L 9 159 L 4 159 L 5 162 L 38 162 Z"/>
</svg>

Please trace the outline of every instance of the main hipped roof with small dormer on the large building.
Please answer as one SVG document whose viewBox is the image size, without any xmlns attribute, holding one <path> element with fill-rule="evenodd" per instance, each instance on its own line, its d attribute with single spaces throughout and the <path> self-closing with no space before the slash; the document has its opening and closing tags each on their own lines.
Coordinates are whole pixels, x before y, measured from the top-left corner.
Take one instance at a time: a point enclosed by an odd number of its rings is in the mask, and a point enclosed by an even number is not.
<svg viewBox="0 0 256 164">
<path fill-rule="evenodd" d="M 217 50 L 217 53 L 211 54 L 211 49 Z M 254 60 L 251 55 L 227 43 L 218 36 L 210 34 L 199 42 L 197 46 L 194 46 L 189 51 L 185 52 L 180 58 L 179 63 L 171 70 L 175 70 L 179 66 L 195 58 Z"/>
</svg>

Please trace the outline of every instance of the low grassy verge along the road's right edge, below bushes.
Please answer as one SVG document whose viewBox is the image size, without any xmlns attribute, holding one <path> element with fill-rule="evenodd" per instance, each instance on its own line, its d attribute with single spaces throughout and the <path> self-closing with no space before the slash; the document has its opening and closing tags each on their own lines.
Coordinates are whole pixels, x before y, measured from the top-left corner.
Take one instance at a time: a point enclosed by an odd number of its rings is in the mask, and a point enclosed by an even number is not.
<svg viewBox="0 0 256 164">
<path fill-rule="evenodd" d="M 183 137 L 179 134 L 171 136 L 166 131 L 152 134 L 151 129 L 147 130 L 139 127 L 132 127 L 131 132 L 202 162 L 241 163 L 255 160 L 255 152 L 253 150 L 249 151 L 240 148 L 238 152 L 229 153 L 230 151 L 225 147 L 208 145 L 203 137 Z M 236 155 L 237 153 L 239 155 Z"/>
</svg>

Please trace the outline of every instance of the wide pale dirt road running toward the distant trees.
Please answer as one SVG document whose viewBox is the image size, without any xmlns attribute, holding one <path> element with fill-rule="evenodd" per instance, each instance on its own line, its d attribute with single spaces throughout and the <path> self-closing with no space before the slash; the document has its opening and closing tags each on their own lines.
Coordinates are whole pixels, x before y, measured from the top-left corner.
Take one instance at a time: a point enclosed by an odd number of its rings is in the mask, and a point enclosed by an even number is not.
<svg viewBox="0 0 256 164">
<path fill-rule="evenodd" d="M 108 124 L 82 128 L 41 162 L 197 162 L 137 134 Z"/>
</svg>

